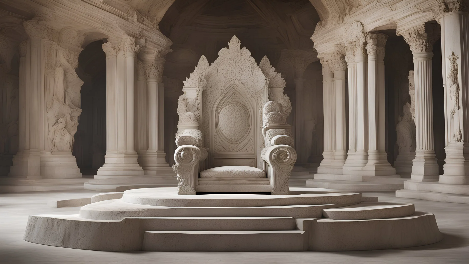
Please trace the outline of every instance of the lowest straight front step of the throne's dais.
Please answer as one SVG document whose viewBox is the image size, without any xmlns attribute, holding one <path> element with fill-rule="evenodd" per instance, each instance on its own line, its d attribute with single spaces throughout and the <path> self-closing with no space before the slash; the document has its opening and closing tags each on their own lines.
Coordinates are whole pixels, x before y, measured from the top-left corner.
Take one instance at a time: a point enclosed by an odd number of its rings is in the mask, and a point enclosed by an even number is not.
<svg viewBox="0 0 469 264">
<path fill-rule="evenodd" d="M 147 231 L 145 251 L 304 251 L 304 231 Z M 162 243 L 161 241 L 164 241 Z"/>
</svg>

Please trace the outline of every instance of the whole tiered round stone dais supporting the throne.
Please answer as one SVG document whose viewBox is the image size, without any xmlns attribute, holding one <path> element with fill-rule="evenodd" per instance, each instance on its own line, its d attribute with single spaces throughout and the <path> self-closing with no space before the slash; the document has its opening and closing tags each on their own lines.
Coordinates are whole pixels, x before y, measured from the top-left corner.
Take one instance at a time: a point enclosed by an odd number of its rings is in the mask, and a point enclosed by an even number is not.
<svg viewBox="0 0 469 264">
<path fill-rule="evenodd" d="M 96 195 L 79 215 L 30 216 L 24 240 L 105 251 L 303 251 L 402 248 L 442 239 L 433 214 L 363 198 L 128 190 Z"/>
</svg>

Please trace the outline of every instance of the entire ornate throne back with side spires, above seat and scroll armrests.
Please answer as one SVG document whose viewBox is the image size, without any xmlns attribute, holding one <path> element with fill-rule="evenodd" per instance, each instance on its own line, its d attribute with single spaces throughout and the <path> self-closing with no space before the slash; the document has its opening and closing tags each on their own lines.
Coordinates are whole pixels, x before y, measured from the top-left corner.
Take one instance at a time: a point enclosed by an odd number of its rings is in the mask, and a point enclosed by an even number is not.
<svg viewBox="0 0 469 264">
<path fill-rule="evenodd" d="M 236 36 L 218 54 L 210 66 L 202 56 L 184 81 L 176 144 L 206 148 L 206 168 L 263 169 L 262 149 L 272 145 L 273 137 L 291 132 L 285 124 L 291 112 L 290 100 L 283 94 L 285 80 L 267 57 L 258 66 Z M 279 137 L 278 142 L 293 142 Z"/>
</svg>

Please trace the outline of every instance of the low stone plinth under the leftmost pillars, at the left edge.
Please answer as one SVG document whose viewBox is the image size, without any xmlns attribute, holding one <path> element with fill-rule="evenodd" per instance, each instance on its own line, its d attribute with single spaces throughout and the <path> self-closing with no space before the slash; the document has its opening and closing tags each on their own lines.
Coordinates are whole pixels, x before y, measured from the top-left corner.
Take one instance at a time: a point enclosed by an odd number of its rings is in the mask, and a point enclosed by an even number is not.
<svg viewBox="0 0 469 264">
<path fill-rule="evenodd" d="M 26 179 L 0 177 L 0 192 L 44 192 L 57 190 L 83 190 L 83 183 L 93 176 L 76 179 Z"/>
</svg>

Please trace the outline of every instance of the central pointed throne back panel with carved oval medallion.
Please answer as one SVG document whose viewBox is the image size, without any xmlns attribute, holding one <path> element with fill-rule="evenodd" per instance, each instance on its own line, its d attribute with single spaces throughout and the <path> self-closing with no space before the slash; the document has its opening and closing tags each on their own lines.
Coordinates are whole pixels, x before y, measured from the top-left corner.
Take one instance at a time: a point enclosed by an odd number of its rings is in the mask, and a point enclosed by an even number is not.
<svg viewBox="0 0 469 264">
<path fill-rule="evenodd" d="M 250 51 L 240 47 L 241 41 L 234 36 L 204 74 L 199 129 L 209 152 L 208 168 L 263 168 L 262 108 L 268 101 L 269 85 Z"/>
</svg>

